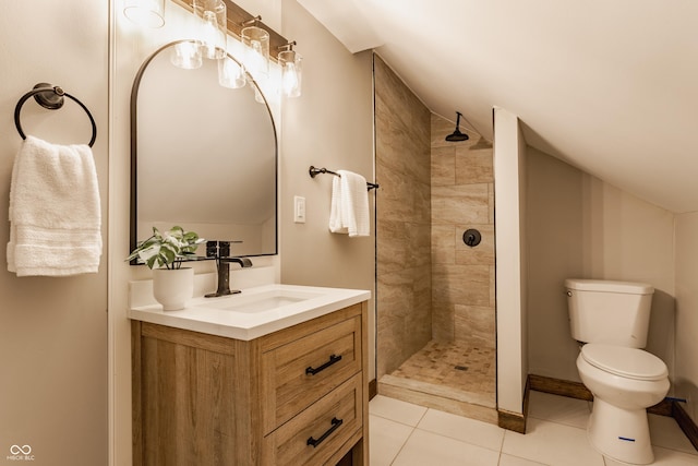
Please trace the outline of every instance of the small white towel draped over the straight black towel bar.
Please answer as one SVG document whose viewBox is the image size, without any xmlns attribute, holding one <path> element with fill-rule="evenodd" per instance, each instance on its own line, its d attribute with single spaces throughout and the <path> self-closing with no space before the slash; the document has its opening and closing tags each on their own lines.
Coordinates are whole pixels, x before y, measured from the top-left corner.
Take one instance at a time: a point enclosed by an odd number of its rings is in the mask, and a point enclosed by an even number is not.
<svg viewBox="0 0 698 466">
<path fill-rule="evenodd" d="M 338 170 L 332 182 L 329 231 L 350 237 L 369 236 L 369 191 L 366 179 L 347 170 Z"/>
</svg>

